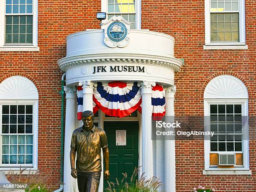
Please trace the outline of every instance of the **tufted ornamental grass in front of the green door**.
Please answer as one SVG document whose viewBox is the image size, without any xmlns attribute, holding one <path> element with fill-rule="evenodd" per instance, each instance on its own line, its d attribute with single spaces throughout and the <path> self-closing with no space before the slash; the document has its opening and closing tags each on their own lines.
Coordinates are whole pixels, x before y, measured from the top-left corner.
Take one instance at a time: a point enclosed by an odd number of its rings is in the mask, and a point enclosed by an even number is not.
<svg viewBox="0 0 256 192">
<path fill-rule="evenodd" d="M 137 179 L 139 168 L 135 168 L 130 181 L 127 180 L 127 173 L 123 174 L 123 179 L 119 182 L 116 178 L 116 185 L 113 182 L 108 182 L 108 192 L 157 192 L 161 187 L 161 182 L 156 177 L 146 179 L 145 173 Z"/>
</svg>

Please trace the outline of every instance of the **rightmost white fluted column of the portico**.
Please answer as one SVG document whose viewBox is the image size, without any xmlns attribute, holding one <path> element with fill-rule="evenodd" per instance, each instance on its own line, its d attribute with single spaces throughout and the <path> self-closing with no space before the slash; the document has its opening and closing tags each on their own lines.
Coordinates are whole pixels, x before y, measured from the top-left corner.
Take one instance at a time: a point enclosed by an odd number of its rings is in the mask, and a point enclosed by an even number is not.
<svg viewBox="0 0 256 192">
<path fill-rule="evenodd" d="M 165 102 L 166 102 L 166 121 L 174 120 L 174 94 L 176 87 L 166 87 L 165 89 Z M 172 130 L 174 131 L 174 129 Z M 165 191 L 175 192 L 175 136 L 169 140 L 166 138 L 164 141 L 164 170 L 165 170 Z"/>
</svg>

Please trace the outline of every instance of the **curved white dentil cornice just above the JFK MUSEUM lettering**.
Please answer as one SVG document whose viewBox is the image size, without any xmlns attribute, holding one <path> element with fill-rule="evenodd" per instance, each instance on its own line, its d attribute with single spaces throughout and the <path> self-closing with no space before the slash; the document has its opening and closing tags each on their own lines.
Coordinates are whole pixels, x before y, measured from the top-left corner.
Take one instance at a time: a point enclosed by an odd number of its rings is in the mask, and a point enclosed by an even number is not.
<svg viewBox="0 0 256 192">
<path fill-rule="evenodd" d="M 125 56 L 125 55 L 124 55 Z M 133 64 L 152 64 L 154 66 L 159 65 L 162 67 L 168 67 L 172 69 L 174 72 L 178 72 L 179 69 L 182 67 L 182 61 L 176 58 L 151 58 L 152 56 L 146 55 L 146 56 L 139 56 L 141 59 L 138 59 L 138 56 L 130 56 L 130 58 L 124 58 L 124 56 L 71 56 L 71 57 L 65 57 L 63 59 L 60 59 L 57 64 L 59 65 L 61 71 L 66 72 L 67 69 L 79 66 L 79 65 L 86 65 L 86 64 L 108 64 L 110 62 L 115 63 L 133 63 Z M 136 58 L 137 57 L 137 58 Z"/>
</svg>

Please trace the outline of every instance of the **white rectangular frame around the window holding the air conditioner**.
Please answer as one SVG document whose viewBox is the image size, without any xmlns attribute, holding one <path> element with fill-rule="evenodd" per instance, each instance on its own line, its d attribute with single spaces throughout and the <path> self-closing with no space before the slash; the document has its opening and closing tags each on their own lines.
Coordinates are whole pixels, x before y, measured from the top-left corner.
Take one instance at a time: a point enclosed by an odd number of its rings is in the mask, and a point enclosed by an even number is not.
<svg viewBox="0 0 256 192">
<path fill-rule="evenodd" d="M 205 117 L 210 116 L 210 105 L 216 104 L 240 104 L 242 105 L 242 116 L 248 117 L 248 99 L 205 99 L 204 100 L 204 115 Z M 208 118 L 209 119 L 209 118 Z M 209 127 L 210 122 L 205 121 L 205 127 Z M 243 128 L 243 141 L 242 141 L 242 151 L 243 151 L 243 167 L 236 166 L 234 168 L 218 168 L 210 166 L 210 140 L 205 140 L 205 170 L 209 171 L 233 171 L 233 170 L 249 170 L 249 140 L 248 140 L 248 123 Z M 214 152 L 215 154 L 223 154 L 222 152 Z M 227 151 L 225 154 L 234 154 L 234 151 Z M 226 174 L 223 172 L 223 174 Z"/>
</svg>

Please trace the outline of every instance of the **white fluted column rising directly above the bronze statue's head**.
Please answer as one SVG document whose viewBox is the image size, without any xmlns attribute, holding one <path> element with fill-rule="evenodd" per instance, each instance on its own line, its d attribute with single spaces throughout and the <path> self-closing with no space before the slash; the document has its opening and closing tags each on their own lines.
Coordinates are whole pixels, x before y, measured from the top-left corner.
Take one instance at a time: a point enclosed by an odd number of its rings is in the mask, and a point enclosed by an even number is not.
<svg viewBox="0 0 256 192">
<path fill-rule="evenodd" d="M 83 111 L 92 111 L 92 95 L 94 84 L 91 81 L 79 82 L 83 86 Z"/>
</svg>

